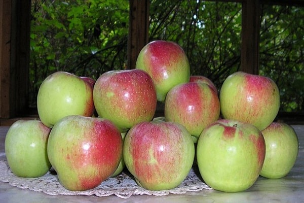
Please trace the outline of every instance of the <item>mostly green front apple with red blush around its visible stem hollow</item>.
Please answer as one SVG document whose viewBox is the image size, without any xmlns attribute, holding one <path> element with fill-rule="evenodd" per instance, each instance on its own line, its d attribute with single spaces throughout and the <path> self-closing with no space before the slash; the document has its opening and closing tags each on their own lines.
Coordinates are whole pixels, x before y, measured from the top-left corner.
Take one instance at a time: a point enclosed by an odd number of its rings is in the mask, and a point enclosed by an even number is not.
<svg viewBox="0 0 304 203">
<path fill-rule="evenodd" d="M 222 119 L 203 130 L 196 155 L 207 185 L 224 192 L 244 191 L 259 176 L 265 158 L 265 141 L 254 125 Z"/>
</svg>

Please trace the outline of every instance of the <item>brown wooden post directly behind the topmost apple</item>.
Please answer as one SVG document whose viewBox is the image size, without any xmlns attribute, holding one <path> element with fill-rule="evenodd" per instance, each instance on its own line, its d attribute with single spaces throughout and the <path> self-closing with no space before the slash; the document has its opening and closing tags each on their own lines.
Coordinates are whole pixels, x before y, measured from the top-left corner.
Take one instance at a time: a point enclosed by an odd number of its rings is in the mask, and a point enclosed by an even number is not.
<svg viewBox="0 0 304 203">
<path fill-rule="evenodd" d="M 137 56 L 148 43 L 149 1 L 130 0 L 128 69 L 134 69 Z"/>
</svg>

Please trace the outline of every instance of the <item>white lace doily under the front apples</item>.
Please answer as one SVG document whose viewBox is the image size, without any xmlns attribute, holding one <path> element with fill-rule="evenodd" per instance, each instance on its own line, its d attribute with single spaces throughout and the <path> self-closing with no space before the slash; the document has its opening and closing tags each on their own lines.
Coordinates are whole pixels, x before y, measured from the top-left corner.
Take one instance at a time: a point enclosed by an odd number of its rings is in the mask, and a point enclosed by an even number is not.
<svg viewBox="0 0 304 203">
<path fill-rule="evenodd" d="M 189 172 L 186 179 L 176 188 L 162 191 L 146 190 L 136 184 L 130 174 L 122 173 L 117 177 L 108 178 L 99 186 L 86 191 L 70 191 L 65 189 L 58 181 L 57 175 L 48 172 L 39 178 L 20 178 L 15 176 L 9 166 L 7 160 L 0 161 L 0 181 L 9 183 L 22 189 L 29 189 L 37 192 L 44 192 L 50 195 L 96 195 L 109 196 L 116 195 L 121 198 L 128 198 L 132 195 L 157 195 L 163 196 L 172 194 L 183 194 L 187 191 L 200 191 L 203 189 L 211 190 L 198 176 L 199 172 L 193 168 Z"/>
</svg>

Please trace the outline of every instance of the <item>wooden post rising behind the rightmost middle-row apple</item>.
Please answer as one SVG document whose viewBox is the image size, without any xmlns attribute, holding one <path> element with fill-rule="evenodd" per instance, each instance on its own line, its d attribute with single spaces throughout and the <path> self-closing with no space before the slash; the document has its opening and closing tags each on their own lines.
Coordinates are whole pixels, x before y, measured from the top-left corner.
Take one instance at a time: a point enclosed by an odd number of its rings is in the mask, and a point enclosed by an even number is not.
<svg viewBox="0 0 304 203">
<path fill-rule="evenodd" d="M 241 71 L 258 74 L 259 69 L 259 0 L 242 3 Z"/>
</svg>

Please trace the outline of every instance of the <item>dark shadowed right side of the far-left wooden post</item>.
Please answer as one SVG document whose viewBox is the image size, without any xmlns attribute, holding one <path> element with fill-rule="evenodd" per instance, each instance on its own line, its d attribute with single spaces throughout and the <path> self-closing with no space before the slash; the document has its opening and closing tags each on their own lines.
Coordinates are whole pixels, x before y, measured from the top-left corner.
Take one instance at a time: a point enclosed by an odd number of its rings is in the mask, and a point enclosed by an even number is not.
<svg viewBox="0 0 304 203">
<path fill-rule="evenodd" d="M 29 110 L 29 54 L 30 54 L 30 11 L 31 0 L 13 0 L 12 46 L 11 46 L 11 86 L 14 105 L 11 117 L 25 116 Z"/>
</svg>

